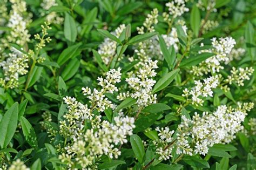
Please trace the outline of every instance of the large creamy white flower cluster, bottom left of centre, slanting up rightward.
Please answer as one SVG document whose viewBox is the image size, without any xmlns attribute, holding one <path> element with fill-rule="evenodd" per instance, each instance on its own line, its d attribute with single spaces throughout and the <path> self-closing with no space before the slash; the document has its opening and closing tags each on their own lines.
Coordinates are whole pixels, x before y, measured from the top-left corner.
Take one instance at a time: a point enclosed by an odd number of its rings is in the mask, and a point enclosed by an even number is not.
<svg viewBox="0 0 256 170">
<path fill-rule="evenodd" d="M 115 117 L 114 121 L 116 124 L 104 120 L 96 132 L 93 129 L 86 130 L 82 138 L 65 147 L 67 153 L 59 155 L 59 159 L 70 168 L 74 162 L 83 168 L 90 167 L 96 158 L 104 154 L 117 159 L 121 152 L 116 145 L 126 143 L 127 135 L 132 135 L 135 126 L 134 118 L 127 116 Z"/>
</svg>

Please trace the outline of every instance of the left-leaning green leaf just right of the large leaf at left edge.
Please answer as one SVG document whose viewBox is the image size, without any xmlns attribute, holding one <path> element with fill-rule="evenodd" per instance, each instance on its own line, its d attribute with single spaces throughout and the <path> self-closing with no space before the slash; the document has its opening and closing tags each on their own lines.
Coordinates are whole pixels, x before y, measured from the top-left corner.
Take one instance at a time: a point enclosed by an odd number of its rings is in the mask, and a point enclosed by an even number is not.
<svg viewBox="0 0 256 170">
<path fill-rule="evenodd" d="M 22 132 L 31 147 L 38 147 L 35 130 L 26 118 L 21 117 Z"/>
</svg>

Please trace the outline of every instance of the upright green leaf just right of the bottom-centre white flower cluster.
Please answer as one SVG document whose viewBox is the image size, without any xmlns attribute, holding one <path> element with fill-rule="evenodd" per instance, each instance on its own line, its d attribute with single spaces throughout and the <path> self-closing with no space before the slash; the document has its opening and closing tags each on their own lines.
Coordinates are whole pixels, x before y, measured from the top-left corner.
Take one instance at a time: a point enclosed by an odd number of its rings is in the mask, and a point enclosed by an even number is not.
<svg viewBox="0 0 256 170">
<path fill-rule="evenodd" d="M 140 139 L 140 137 L 137 134 L 133 134 L 131 135 L 130 142 L 131 142 L 132 150 L 135 154 L 135 157 L 138 159 L 140 164 L 142 164 L 143 158 L 145 155 L 142 139 Z"/>
</svg>

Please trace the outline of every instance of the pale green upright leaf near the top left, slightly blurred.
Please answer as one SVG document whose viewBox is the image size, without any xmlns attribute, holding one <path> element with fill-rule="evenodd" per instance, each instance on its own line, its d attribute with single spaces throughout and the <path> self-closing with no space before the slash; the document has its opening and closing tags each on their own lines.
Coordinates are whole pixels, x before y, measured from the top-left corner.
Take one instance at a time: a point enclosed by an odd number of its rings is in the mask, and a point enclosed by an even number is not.
<svg viewBox="0 0 256 170">
<path fill-rule="evenodd" d="M 77 38 L 76 21 L 68 12 L 65 13 L 64 36 L 69 42 L 75 42 Z"/>
</svg>

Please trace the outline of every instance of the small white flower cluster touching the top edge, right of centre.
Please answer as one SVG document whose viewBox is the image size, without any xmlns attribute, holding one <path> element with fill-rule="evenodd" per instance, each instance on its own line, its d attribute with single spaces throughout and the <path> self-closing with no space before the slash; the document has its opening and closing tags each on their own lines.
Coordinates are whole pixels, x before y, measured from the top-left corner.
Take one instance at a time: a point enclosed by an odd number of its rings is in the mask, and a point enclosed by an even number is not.
<svg viewBox="0 0 256 170">
<path fill-rule="evenodd" d="M 183 15 L 184 12 L 188 12 L 189 9 L 186 8 L 185 0 L 174 0 L 172 2 L 168 2 L 165 5 L 169 8 L 170 15 L 173 18 Z"/>
</svg>

